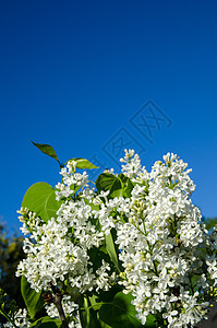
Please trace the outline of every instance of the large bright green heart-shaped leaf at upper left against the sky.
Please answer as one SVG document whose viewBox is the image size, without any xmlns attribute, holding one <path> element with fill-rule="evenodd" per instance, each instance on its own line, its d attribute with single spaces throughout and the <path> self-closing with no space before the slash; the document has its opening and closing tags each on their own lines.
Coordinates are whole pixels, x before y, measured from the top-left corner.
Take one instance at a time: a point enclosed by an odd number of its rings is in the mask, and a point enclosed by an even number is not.
<svg viewBox="0 0 217 328">
<path fill-rule="evenodd" d="M 52 216 L 57 218 L 56 212 L 60 204 L 56 200 L 55 190 L 49 184 L 37 183 L 27 189 L 22 207 L 29 209 L 45 222 L 48 222 Z"/>
</svg>

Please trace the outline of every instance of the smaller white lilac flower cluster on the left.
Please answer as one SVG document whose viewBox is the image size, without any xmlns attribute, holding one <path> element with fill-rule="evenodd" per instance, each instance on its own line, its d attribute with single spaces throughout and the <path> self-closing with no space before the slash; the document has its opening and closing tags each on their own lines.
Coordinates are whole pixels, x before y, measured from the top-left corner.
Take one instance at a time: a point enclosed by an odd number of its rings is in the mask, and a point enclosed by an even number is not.
<svg viewBox="0 0 217 328">
<path fill-rule="evenodd" d="M 93 189 L 81 191 L 76 201 L 72 197 L 77 187 L 86 187 L 88 181 L 86 173 L 74 173 L 74 165 L 70 162 L 61 171 L 62 184 L 57 185 L 56 194 L 58 200 L 62 199 L 62 204 L 57 219 L 51 218 L 45 223 L 27 209 L 20 211 L 23 214 L 23 232 L 31 232 L 31 236 L 24 241 L 27 257 L 20 262 L 16 276 L 24 274 L 36 292 L 50 290 L 51 284 L 58 285 L 63 281 L 81 293 L 94 289 L 108 290 L 114 279 L 114 276 L 110 277 L 109 263 L 105 261 L 93 272 L 88 250 L 99 247 L 105 236 L 91 207 Z"/>
</svg>

